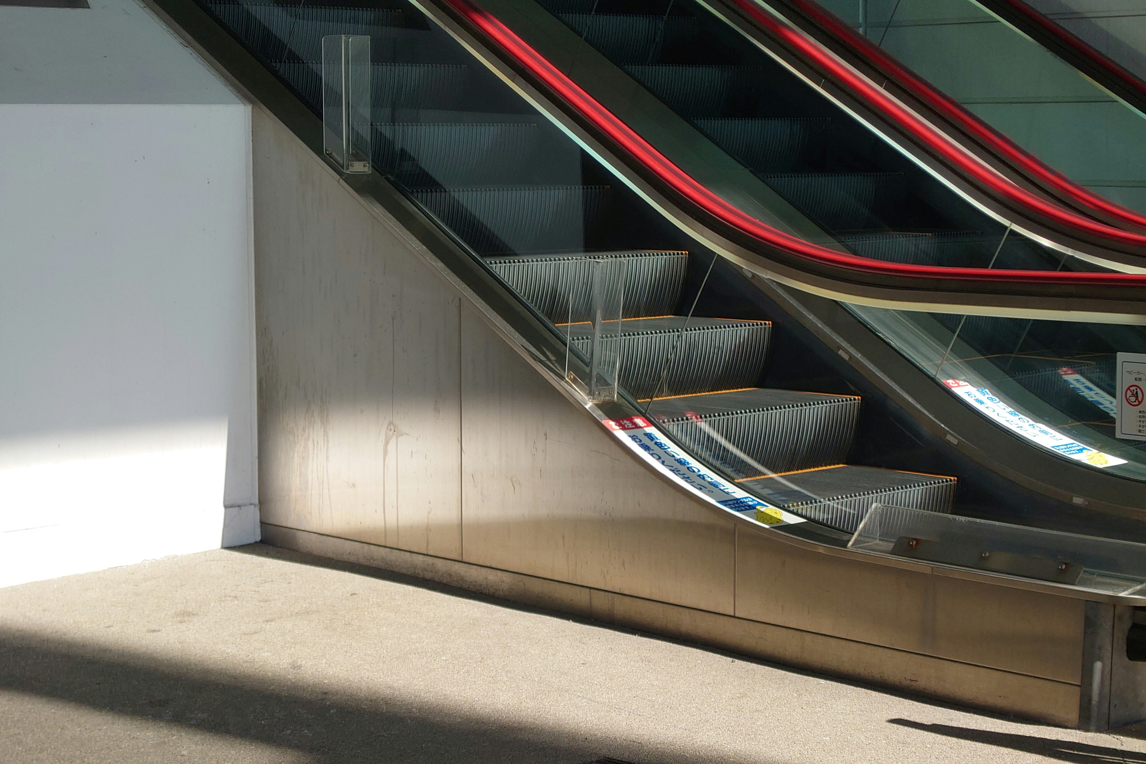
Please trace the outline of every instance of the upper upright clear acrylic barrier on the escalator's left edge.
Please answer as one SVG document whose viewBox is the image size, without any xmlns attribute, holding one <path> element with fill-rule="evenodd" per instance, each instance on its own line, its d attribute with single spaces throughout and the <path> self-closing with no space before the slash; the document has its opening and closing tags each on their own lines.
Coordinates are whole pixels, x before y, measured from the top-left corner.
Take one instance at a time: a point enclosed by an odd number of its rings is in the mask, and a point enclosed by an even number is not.
<svg viewBox="0 0 1146 764">
<path fill-rule="evenodd" d="M 322 148 L 345 173 L 370 172 L 370 38 L 322 38 Z"/>
</svg>

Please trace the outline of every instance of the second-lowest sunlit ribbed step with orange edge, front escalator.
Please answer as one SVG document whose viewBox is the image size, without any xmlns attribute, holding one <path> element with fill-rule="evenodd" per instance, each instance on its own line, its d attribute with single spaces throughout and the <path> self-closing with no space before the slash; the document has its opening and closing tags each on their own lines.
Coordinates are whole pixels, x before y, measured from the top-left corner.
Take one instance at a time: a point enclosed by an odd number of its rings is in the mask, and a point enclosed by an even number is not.
<svg viewBox="0 0 1146 764">
<path fill-rule="evenodd" d="M 756 387 L 658 399 L 649 416 L 700 458 L 745 478 L 841 463 L 859 399 Z"/>
</svg>

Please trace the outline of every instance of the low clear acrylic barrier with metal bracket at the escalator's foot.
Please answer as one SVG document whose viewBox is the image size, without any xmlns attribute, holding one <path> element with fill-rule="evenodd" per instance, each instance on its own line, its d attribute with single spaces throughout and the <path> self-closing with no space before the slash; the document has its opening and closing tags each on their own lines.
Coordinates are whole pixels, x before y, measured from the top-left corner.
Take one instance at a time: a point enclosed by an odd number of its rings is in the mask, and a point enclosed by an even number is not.
<svg viewBox="0 0 1146 764">
<path fill-rule="evenodd" d="M 848 549 L 1077 586 L 1146 594 L 1146 544 L 876 504 Z"/>
</svg>

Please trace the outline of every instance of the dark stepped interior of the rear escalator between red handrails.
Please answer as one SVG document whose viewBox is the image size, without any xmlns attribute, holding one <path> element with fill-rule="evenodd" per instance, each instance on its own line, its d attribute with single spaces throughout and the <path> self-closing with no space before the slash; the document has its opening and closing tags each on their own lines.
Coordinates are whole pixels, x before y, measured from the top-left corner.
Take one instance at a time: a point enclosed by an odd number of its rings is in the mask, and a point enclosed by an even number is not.
<svg viewBox="0 0 1146 764">
<path fill-rule="evenodd" d="M 865 258 L 1058 269 L 693 0 L 542 0 L 761 181 Z M 1070 266 L 1068 266 L 1070 267 Z"/>
</svg>

